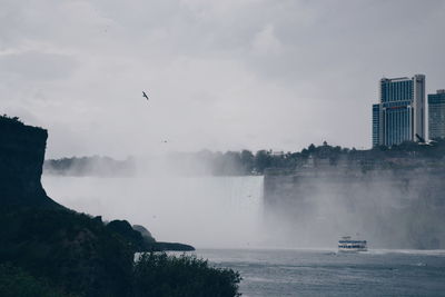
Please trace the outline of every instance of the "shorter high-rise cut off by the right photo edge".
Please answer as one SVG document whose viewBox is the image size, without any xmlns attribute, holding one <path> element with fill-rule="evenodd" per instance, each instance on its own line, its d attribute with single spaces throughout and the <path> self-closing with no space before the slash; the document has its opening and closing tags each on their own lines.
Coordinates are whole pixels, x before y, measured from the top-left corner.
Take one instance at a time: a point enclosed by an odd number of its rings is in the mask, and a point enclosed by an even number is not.
<svg viewBox="0 0 445 297">
<path fill-rule="evenodd" d="M 428 95 L 429 139 L 445 138 L 445 90 Z"/>
</svg>

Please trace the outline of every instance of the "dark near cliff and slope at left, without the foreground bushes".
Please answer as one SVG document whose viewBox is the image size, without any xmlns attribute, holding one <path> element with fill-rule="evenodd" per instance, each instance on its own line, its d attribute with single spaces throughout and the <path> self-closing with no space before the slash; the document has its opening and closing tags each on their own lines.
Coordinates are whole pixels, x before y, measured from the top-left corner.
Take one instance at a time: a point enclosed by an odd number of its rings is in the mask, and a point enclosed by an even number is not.
<svg viewBox="0 0 445 297">
<path fill-rule="evenodd" d="M 0 117 L 0 265 L 78 296 L 126 296 L 134 247 L 100 218 L 47 196 L 40 181 L 47 138 L 44 129 Z"/>
</svg>

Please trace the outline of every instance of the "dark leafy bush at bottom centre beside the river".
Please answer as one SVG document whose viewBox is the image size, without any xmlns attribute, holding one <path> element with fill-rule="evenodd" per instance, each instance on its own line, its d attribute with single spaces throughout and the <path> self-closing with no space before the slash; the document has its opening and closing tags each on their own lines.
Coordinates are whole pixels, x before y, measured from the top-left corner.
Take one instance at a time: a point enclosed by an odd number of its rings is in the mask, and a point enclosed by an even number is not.
<svg viewBox="0 0 445 297">
<path fill-rule="evenodd" d="M 241 277 L 231 269 L 210 267 L 195 256 L 142 254 L 134 268 L 135 297 L 240 296 Z"/>
</svg>

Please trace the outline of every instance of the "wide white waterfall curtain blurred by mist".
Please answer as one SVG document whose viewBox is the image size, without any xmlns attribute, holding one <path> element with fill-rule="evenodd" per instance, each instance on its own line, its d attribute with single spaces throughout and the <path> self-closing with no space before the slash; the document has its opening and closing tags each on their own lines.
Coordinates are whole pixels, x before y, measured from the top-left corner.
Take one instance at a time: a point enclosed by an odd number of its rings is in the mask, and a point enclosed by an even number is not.
<svg viewBox="0 0 445 297">
<path fill-rule="evenodd" d="M 263 177 L 42 177 L 48 196 L 77 211 L 144 225 L 159 241 L 258 247 Z"/>
</svg>

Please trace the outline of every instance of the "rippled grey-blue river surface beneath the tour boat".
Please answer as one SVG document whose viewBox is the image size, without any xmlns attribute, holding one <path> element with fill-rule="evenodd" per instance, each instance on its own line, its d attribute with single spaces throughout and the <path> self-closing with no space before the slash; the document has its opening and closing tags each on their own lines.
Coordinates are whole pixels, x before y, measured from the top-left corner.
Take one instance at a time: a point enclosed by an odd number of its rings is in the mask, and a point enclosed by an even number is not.
<svg viewBox="0 0 445 297">
<path fill-rule="evenodd" d="M 245 297 L 445 296 L 445 250 L 198 249 L 238 270 Z"/>
</svg>

